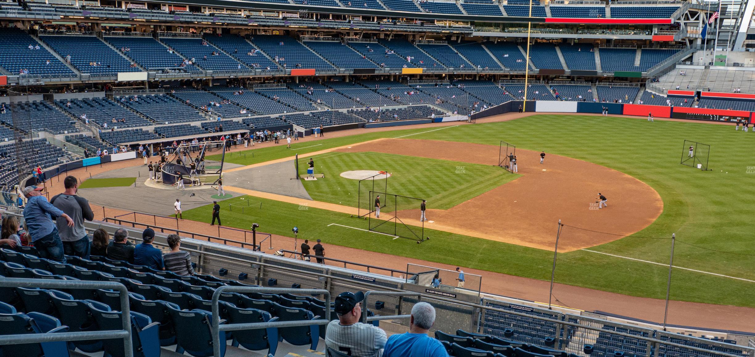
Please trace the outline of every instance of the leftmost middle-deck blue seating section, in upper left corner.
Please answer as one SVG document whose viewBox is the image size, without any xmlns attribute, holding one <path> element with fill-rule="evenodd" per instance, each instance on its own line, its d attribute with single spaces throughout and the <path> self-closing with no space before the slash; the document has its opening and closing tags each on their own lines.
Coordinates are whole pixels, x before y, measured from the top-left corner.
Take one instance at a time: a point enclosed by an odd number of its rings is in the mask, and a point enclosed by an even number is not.
<svg viewBox="0 0 755 357">
<path fill-rule="evenodd" d="M 29 76 L 45 77 L 74 77 L 76 74 L 63 62 L 57 60 L 50 51 L 42 48 L 32 36 L 20 29 L 0 29 L 0 66 L 19 74 L 21 69 L 29 71 Z M 29 45 L 40 46 L 39 49 L 29 50 Z M 47 61 L 50 64 L 46 64 Z"/>
</svg>

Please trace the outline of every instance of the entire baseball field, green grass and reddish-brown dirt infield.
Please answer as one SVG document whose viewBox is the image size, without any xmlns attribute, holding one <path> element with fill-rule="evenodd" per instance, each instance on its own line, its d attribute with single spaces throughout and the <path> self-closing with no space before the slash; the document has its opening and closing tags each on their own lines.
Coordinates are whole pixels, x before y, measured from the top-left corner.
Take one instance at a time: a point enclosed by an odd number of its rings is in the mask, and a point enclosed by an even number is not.
<svg viewBox="0 0 755 357">
<path fill-rule="evenodd" d="M 500 140 L 516 145 L 518 175 L 495 166 Z M 680 165 L 683 140 L 711 146 L 710 171 Z M 287 236 L 298 226 L 300 239 L 547 280 L 560 219 L 556 282 L 655 298 L 665 297 L 663 264 L 675 233 L 674 266 L 686 269 L 674 269 L 671 299 L 751 307 L 753 149 L 755 133 L 728 125 L 591 115 L 294 142 L 292 149 L 247 150 L 226 161 L 252 165 L 297 153 L 304 171 L 307 155 L 315 153 L 316 172 L 325 178 L 304 181 L 313 202 L 254 197 L 263 202 L 260 213 L 223 212 L 223 223 L 248 228 L 254 221 L 264 232 Z M 356 206 L 357 181 L 340 174 L 352 170 L 389 171 L 389 192 L 427 199 L 430 241 L 418 245 L 349 228 L 366 228 L 365 220 L 345 213 Z M 595 209 L 597 192 L 607 196 L 608 208 Z M 210 210 L 183 217 L 205 221 Z M 399 210 L 399 217 L 418 222 L 418 209 Z"/>
</svg>

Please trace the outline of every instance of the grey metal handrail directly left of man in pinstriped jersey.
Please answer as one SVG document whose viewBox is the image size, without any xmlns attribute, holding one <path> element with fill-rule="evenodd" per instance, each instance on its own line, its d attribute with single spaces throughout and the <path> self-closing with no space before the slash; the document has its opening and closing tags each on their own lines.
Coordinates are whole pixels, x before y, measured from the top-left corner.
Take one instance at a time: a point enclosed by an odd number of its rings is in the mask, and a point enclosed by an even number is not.
<svg viewBox="0 0 755 357">
<path fill-rule="evenodd" d="M 325 308 L 325 319 L 309 321 L 282 322 L 252 322 L 248 324 L 220 325 L 220 294 L 223 292 L 260 293 L 260 294 L 316 294 L 325 295 L 325 301 L 330 301 L 330 291 L 325 289 L 294 289 L 294 288 L 264 288 L 256 286 L 221 286 L 212 294 L 212 352 L 220 356 L 220 331 L 252 330 L 257 328 L 288 328 L 294 326 L 328 325 L 331 309 Z M 225 343 L 225 341 L 222 341 Z M 127 356 L 128 357 L 128 356 Z"/>
</svg>

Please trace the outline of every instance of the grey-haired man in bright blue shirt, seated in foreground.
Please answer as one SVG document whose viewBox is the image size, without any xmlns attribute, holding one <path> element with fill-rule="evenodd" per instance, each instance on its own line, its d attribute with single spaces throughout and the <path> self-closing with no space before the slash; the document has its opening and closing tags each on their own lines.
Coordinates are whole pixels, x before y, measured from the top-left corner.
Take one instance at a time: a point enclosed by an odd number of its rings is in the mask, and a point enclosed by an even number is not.
<svg viewBox="0 0 755 357">
<path fill-rule="evenodd" d="M 440 340 L 427 335 L 435 323 L 435 308 L 429 303 L 415 303 L 411 308 L 409 331 L 394 334 L 388 339 L 383 357 L 422 355 L 425 357 L 448 357 Z"/>
</svg>

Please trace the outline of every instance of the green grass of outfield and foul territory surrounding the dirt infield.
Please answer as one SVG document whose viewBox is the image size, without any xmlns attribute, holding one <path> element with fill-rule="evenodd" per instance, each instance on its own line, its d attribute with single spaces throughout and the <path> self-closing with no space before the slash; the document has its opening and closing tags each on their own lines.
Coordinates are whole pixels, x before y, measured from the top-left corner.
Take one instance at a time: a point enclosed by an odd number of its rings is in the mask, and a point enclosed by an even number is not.
<svg viewBox="0 0 755 357">
<path fill-rule="evenodd" d="M 429 129 L 317 140 L 310 145 L 323 145 L 308 150 L 312 152 L 325 149 L 323 146 L 341 146 Z M 752 269 L 755 266 L 755 245 L 752 244 L 749 224 L 755 207 L 755 195 L 750 193 L 755 178 L 755 173 L 751 173 L 755 170 L 752 155 L 755 133 L 703 122 L 649 123 L 641 118 L 535 115 L 511 122 L 461 125 L 409 138 L 489 145 L 498 145 L 499 140 L 505 140 L 517 148 L 545 150 L 630 174 L 658 191 L 664 201 L 663 213 L 655 223 L 636 235 L 591 250 L 665 264 L 670 254 L 668 238 L 676 233 L 674 265 L 755 280 Z M 712 171 L 680 165 L 685 139 L 710 144 L 709 168 Z M 237 163 L 251 164 L 290 154 L 285 146 L 276 146 L 255 150 L 255 158 Z M 519 162 L 519 165 L 529 163 Z M 620 205 L 621 202 L 614 204 Z M 308 237 L 325 239 L 329 244 L 534 279 L 550 278 L 552 252 L 445 232 L 433 232 L 433 239 L 416 247 L 414 242 L 406 239 L 375 239 L 371 236 L 374 233 L 327 227 L 330 220 L 333 223 L 354 222 L 343 214 L 313 208 L 298 211 L 298 206 L 288 207 L 280 202 L 266 202 L 263 206 L 263 217 L 258 218 L 260 224 L 262 220 L 265 222 L 265 232 L 290 236 L 291 227 L 288 226 L 295 224 L 306 227 L 304 232 L 312 234 Z M 204 220 L 209 217 L 208 210 L 208 207 L 196 208 L 184 214 Z M 239 228 L 248 227 L 242 217 L 230 221 Z M 553 226 L 556 226 L 555 222 Z M 565 229 L 561 239 L 569 239 L 569 232 L 569 228 Z M 379 262 L 373 263 L 380 265 Z M 559 254 L 556 269 L 556 282 L 640 297 L 664 298 L 666 277 L 667 268 L 663 266 L 589 251 Z M 674 269 L 673 277 L 671 297 L 675 300 L 755 306 L 755 283 L 682 269 Z"/>
</svg>

